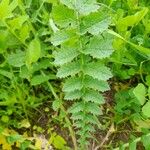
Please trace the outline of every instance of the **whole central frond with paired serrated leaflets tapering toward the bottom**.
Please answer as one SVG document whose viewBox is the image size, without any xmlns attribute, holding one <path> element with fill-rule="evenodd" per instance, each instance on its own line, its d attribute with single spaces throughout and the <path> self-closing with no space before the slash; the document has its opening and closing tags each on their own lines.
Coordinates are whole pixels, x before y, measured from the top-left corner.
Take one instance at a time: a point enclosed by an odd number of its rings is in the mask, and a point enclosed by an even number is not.
<svg viewBox="0 0 150 150">
<path fill-rule="evenodd" d="M 111 19 L 94 1 L 60 2 L 67 6 L 62 5 L 62 9 L 69 15 L 59 15 L 59 5 L 52 11 L 54 23 L 59 27 L 51 38 L 57 46 L 54 63 L 59 66 L 57 77 L 66 78 L 64 99 L 72 101 L 68 111 L 84 149 L 92 137 L 95 117 L 102 114 L 100 106 L 105 103 L 99 91 L 109 90 L 106 81 L 112 77 L 103 61 L 113 53 L 113 37 L 104 33 Z"/>
</svg>

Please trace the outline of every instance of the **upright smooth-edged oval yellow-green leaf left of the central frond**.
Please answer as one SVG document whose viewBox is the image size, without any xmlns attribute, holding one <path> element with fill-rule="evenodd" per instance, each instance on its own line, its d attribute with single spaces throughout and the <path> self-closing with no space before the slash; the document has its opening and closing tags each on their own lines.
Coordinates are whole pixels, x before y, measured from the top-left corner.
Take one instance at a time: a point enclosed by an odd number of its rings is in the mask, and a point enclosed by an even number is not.
<svg viewBox="0 0 150 150">
<path fill-rule="evenodd" d="M 33 39 L 26 53 L 26 65 L 30 66 L 32 63 L 36 62 L 41 55 L 41 44 L 37 38 Z"/>
</svg>

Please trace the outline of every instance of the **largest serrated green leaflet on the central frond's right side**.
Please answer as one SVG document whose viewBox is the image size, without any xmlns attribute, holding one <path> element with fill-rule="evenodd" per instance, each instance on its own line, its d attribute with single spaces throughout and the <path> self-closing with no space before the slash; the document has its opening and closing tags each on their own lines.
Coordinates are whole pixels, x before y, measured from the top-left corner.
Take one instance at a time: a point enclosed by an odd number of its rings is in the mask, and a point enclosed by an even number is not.
<svg viewBox="0 0 150 150">
<path fill-rule="evenodd" d="M 113 53 L 112 39 L 109 36 L 95 36 L 90 40 L 90 43 L 84 50 L 85 54 L 90 54 L 94 58 L 106 58 Z"/>
</svg>

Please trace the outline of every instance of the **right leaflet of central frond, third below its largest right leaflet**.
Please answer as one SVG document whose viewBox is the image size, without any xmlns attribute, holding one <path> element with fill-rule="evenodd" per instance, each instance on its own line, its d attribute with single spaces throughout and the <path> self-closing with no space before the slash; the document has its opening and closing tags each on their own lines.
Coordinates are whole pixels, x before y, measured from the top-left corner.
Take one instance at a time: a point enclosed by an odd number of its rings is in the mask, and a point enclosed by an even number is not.
<svg viewBox="0 0 150 150">
<path fill-rule="evenodd" d="M 104 104 L 105 102 L 104 97 L 94 90 L 86 90 L 82 98 L 87 102 L 94 102 L 97 104 Z"/>
</svg>

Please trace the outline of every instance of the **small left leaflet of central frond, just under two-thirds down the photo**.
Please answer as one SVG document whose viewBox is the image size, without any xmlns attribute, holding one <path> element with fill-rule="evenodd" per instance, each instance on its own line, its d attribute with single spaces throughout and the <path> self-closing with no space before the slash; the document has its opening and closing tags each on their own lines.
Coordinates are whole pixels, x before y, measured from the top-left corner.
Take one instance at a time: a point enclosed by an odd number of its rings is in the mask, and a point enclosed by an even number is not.
<svg viewBox="0 0 150 150">
<path fill-rule="evenodd" d="M 82 91 L 75 90 L 72 92 L 66 92 L 64 99 L 66 100 L 80 99 L 81 96 L 82 96 Z"/>
</svg>

